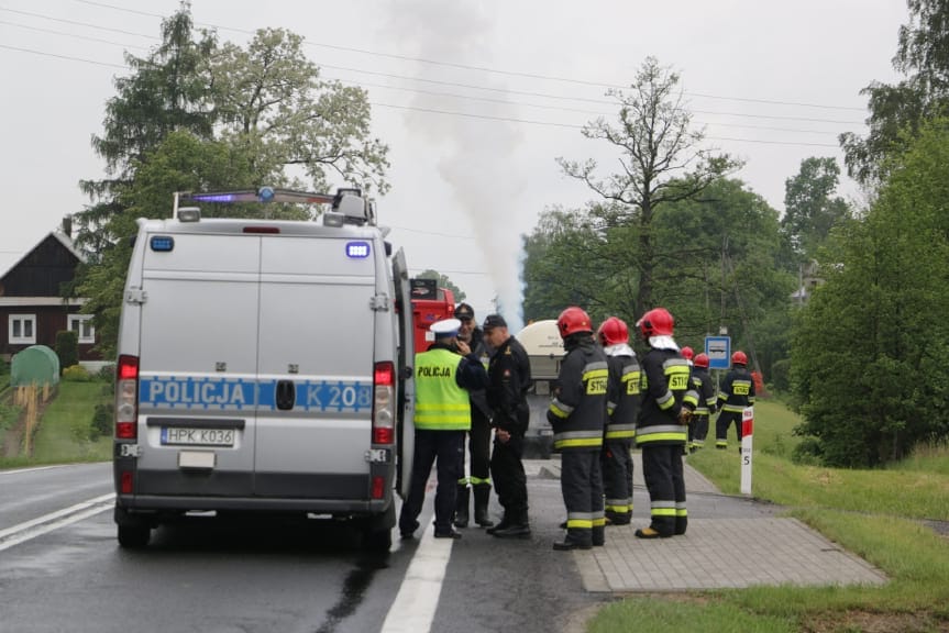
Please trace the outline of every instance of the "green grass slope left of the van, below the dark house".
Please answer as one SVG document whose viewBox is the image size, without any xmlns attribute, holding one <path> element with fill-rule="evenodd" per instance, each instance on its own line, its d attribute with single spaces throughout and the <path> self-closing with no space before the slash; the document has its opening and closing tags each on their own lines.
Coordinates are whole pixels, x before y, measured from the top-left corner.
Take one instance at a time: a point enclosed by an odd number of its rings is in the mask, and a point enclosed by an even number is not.
<svg viewBox="0 0 949 633">
<path fill-rule="evenodd" d="M 59 382 L 58 395 L 43 413 L 33 437 L 32 456 L 0 457 L 0 468 L 110 459 L 111 437 L 88 440 L 96 404 L 111 399 L 104 388 L 99 381 Z"/>
</svg>

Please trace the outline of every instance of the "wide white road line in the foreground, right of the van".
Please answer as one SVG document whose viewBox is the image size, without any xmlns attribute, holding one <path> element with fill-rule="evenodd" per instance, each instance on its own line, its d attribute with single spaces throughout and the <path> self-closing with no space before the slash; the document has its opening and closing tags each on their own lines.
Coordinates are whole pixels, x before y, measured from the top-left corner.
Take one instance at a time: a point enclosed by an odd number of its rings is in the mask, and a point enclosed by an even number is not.
<svg viewBox="0 0 949 633">
<path fill-rule="evenodd" d="M 431 529 L 424 530 L 382 633 L 427 633 L 431 630 L 453 542 L 453 538 L 435 538 Z"/>
</svg>

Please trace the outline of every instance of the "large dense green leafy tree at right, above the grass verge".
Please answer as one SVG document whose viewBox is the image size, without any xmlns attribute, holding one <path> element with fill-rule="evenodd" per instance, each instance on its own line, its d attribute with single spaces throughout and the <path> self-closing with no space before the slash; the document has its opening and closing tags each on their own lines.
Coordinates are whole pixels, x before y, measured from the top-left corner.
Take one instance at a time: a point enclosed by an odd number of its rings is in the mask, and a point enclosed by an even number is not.
<svg viewBox="0 0 949 633">
<path fill-rule="evenodd" d="M 949 121 L 920 127 L 794 327 L 804 445 L 835 466 L 900 459 L 949 436 Z"/>
</svg>

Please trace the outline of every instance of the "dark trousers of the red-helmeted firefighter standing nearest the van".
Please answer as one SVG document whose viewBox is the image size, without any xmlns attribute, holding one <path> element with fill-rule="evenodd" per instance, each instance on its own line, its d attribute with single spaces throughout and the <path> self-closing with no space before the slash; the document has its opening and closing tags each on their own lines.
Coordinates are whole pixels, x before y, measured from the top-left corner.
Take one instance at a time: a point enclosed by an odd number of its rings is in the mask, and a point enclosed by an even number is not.
<svg viewBox="0 0 949 633">
<path fill-rule="evenodd" d="M 603 542 L 606 523 L 599 454 L 599 448 L 561 453 L 560 490 L 566 506 L 566 540 L 580 545 Z"/>
</svg>

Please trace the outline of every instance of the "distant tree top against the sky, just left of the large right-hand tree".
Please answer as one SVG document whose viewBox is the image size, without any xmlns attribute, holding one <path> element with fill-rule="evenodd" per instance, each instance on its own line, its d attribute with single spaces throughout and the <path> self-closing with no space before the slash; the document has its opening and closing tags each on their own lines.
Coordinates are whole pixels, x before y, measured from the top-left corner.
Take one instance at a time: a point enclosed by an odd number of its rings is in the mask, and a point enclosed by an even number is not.
<svg viewBox="0 0 949 633">
<path fill-rule="evenodd" d="M 834 158 L 805 158 L 801 171 L 784 181 L 782 232 L 797 256 L 807 262 L 817 256 L 818 247 L 830 229 L 849 214 L 847 202 L 835 196 L 840 167 Z"/>
</svg>

